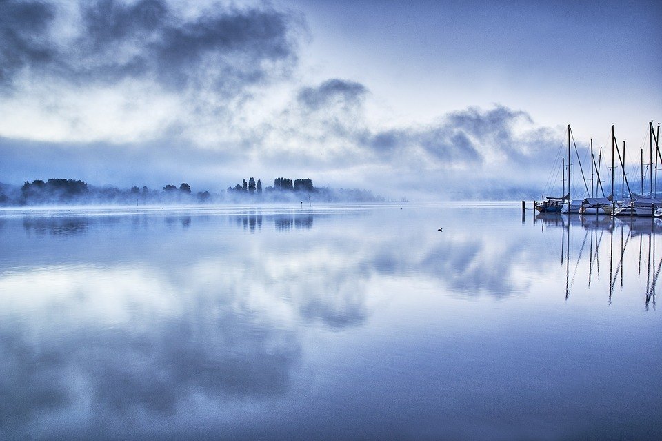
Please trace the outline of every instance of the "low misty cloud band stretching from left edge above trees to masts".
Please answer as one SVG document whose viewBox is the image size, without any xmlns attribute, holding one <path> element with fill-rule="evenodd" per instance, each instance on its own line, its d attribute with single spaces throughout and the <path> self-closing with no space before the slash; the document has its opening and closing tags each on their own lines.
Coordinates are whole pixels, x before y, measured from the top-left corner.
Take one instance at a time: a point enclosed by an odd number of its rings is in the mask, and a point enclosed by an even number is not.
<svg viewBox="0 0 662 441">
<path fill-rule="evenodd" d="M 543 191 L 541 176 L 555 167 L 563 144 L 561 132 L 501 106 L 385 130 L 369 124 L 360 106 L 328 106 L 329 111 L 315 112 L 294 106 L 254 130 L 234 127 L 232 137 L 221 137 L 213 148 L 186 142 L 185 131 L 122 144 L 0 138 L 0 172 L 14 183 L 74 177 L 92 185 L 188 182 L 212 191 L 248 175 L 263 182 L 282 175 L 311 177 L 317 185 L 358 186 L 386 197 L 519 199 Z"/>
</svg>

